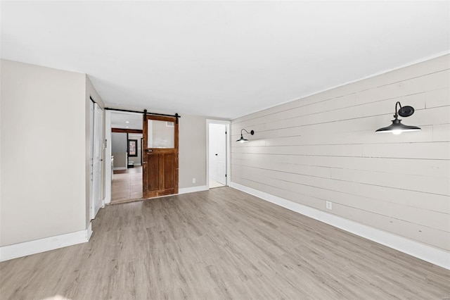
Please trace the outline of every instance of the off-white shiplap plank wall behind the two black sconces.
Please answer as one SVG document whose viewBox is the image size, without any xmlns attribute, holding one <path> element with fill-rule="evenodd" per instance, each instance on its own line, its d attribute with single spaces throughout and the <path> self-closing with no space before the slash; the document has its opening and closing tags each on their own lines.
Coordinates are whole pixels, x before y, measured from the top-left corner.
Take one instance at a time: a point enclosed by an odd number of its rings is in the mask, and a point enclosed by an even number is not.
<svg viewBox="0 0 450 300">
<path fill-rule="evenodd" d="M 449 251 L 449 67 L 441 56 L 232 120 L 232 141 L 255 130 L 232 143 L 232 182 Z M 420 132 L 375 133 L 396 101 Z"/>
</svg>

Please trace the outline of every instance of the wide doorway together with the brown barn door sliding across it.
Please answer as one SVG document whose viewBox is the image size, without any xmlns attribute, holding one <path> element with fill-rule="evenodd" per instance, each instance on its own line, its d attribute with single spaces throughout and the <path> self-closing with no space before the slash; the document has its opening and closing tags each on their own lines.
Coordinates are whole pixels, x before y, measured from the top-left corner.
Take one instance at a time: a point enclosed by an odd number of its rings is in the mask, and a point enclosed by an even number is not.
<svg viewBox="0 0 450 300">
<path fill-rule="evenodd" d="M 105 110 L 105 204 L 178 194 L 181 115 Z"/>
</svg>

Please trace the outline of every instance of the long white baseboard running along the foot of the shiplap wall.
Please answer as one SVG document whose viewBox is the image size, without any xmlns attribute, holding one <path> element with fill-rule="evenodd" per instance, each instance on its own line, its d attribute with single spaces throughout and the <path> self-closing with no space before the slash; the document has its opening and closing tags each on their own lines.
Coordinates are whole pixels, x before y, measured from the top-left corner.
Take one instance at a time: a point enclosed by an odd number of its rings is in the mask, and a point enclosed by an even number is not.
<svg viewBox="0 0 450 300">
<path fill-rule="evenodd" d="M 231 182 L 230 187 L 450 270 L 449 252 Z"/>
</svg>

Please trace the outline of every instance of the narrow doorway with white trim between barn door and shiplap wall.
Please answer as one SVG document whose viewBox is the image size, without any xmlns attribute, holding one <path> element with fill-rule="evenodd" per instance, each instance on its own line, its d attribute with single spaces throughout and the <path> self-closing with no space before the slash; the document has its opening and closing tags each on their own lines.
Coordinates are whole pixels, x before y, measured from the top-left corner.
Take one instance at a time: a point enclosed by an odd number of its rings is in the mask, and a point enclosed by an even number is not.
<svg viewBox="0 0 450 300">
<path fill-rule="evenodd" d="M 207 186 L 210 189 L 229 185 L 228 121 L 207 120 Z"/>
</svg>

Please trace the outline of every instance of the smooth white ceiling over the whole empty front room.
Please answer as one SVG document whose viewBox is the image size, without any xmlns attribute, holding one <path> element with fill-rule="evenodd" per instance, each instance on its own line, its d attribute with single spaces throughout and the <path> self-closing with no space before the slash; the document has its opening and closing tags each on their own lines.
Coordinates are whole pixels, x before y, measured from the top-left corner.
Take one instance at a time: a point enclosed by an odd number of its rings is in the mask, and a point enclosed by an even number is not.
<svg viewBox="0 0 450 300">
<path fill-rule="evenodd" d="M 449 1 L 1 1 L 1 57 L 108 104 L 236 118 L 448 53 Z"/>
</svg>

